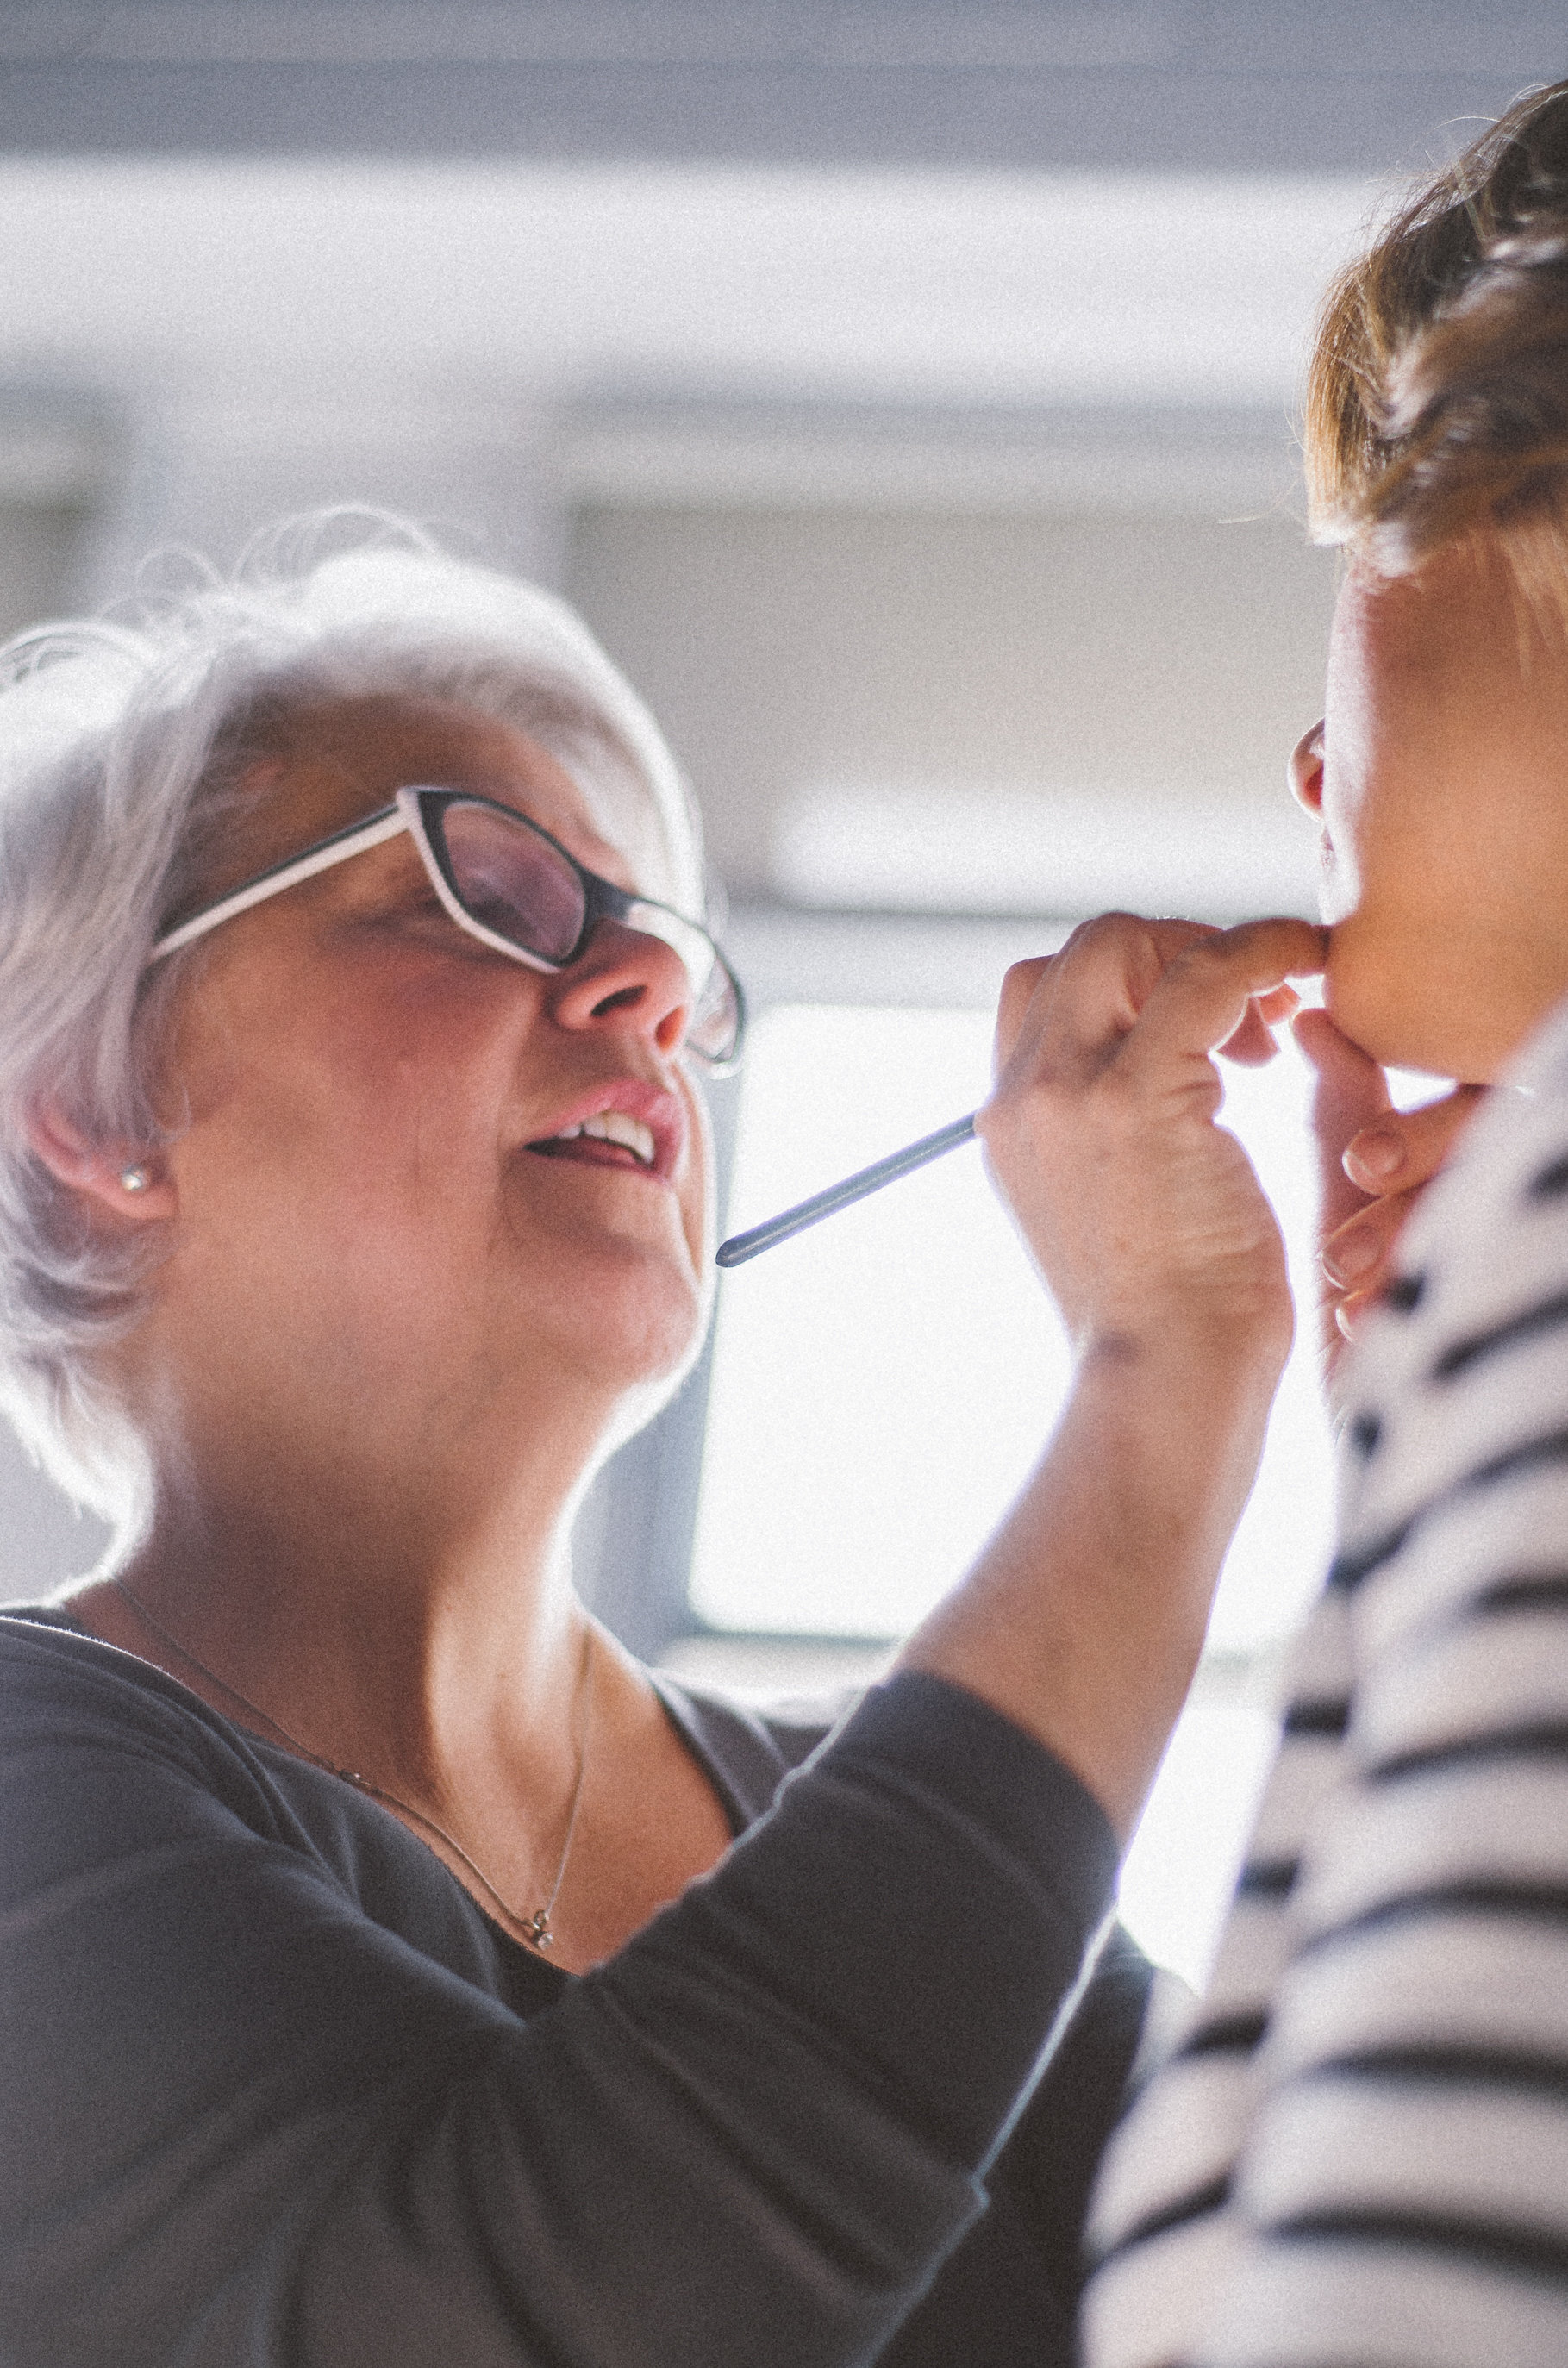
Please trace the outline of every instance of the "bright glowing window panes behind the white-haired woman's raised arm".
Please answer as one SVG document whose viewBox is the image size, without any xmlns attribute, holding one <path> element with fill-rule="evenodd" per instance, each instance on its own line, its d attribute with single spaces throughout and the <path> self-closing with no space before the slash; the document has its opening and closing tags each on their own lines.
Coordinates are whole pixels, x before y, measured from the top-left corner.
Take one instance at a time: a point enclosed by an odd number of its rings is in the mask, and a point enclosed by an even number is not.
<svg viewBox="0 0 1568 2368">
<path fill-rule="evenodd" d="M 730 1229 L 973 1108 L 988 1011 L 779 1004 L 758 1018 Z M 1307 1070 L 1286 1044 L 1227 1070 L 1225 1125 L 1279 1212 L 1312 1305 Z M 1331 1447 L 1312 1326 L 1286 1371 L 1232 1544 L 1208 1665 L 1123 1875 L 1123 1913 L 1189 1980 L 1272 1752 L 1262 1674 L 1317 1591 Z M 976 1146 L 770 1250 L 722 1283 L 692 1608 L 708 1629 L 902 1634 L 1007 1508 L 1068 1383 L 1056 1312 Z"/>
</svg>

